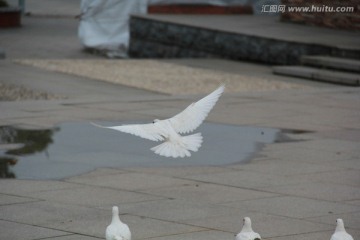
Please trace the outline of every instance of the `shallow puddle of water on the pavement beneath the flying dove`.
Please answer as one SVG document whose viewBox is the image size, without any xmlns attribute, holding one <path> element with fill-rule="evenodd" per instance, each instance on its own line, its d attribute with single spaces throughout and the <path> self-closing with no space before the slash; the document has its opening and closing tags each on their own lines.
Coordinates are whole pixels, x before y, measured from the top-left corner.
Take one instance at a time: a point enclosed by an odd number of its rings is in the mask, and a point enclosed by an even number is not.
<svg viewBox="0 0 360 240">
<path fill-rule="evenodd" d="M 116 125 L 101 123 L 102 125 Z M 0 127 L 0 178 L 62 179 L 99 167 L 226 165 L 246 161 L 278 129 L 204 123 L 197 129 L 202 147 L 190 158 L 165 158 L 150 148 L 159 144 L 89 123 L 64 123 L 53 129 Z"/>
</svg>

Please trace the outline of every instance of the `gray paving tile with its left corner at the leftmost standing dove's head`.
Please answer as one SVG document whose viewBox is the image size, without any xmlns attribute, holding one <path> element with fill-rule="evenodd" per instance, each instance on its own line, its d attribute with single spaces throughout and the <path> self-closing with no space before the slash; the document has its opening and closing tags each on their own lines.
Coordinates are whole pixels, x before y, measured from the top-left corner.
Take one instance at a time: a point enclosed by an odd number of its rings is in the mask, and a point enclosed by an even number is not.
<svg viewBox="0 0 360 240">
<path fill-rule="evenodd" d="M 234 208 L 227 206 L 180 199 L 126 203 L 120 205 L 119 209 L 124 213 L 181 223 L 187 223 L 189 219 L 224 216 L 234 211 Z"/>
</svg>

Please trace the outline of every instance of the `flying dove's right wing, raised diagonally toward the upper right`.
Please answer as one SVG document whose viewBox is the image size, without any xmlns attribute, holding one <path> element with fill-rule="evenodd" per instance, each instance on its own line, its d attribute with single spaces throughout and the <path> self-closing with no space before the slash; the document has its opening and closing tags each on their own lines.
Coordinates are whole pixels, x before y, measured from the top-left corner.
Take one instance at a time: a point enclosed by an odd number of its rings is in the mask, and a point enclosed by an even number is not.
<svg viewBox="0 0 360 240">
<path fill-rule="evenodd" d="M 184 111 L 167 120 L 178 133 L 189 133 L 198 128 L 205 120 L 220 95 L 224 92 L 225 86 L 221 85 L 215 91 L 190 104 Z"/>
</svg>

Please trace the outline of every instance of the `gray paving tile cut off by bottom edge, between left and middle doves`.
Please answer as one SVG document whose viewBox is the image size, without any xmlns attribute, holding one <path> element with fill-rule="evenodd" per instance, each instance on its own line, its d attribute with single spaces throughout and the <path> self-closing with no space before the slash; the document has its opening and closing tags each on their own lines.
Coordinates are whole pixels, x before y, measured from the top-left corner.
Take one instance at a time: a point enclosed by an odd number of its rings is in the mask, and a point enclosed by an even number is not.
<svg viewBox="0 0 360 240">
<path fill-rule="evenodd" d="M 233 233 L 220 232 L 220 231 L 200 231 L 200 232 L 191 232 L 183 233 L 176 235 L 168 235 L 164 237 L 151 238 L 152 240 L 218 240 L 218 239 L 233 239 Z"/>
</svg>

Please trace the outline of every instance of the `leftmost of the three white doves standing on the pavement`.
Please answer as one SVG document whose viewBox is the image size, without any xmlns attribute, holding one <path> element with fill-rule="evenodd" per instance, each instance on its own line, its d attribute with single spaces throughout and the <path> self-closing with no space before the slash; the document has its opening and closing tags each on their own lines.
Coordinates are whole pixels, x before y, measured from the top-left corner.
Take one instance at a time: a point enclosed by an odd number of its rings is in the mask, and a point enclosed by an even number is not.
<svg viewBox="0 0 360 240">
<path fill-rule="evenodd" d="M 105 233 L 106 240 L 131 240 L 131 232 L 125 223 L 119 218 L 119 208 L 113 206 L 111 224 L 107 226 Z"/>
</svg>

